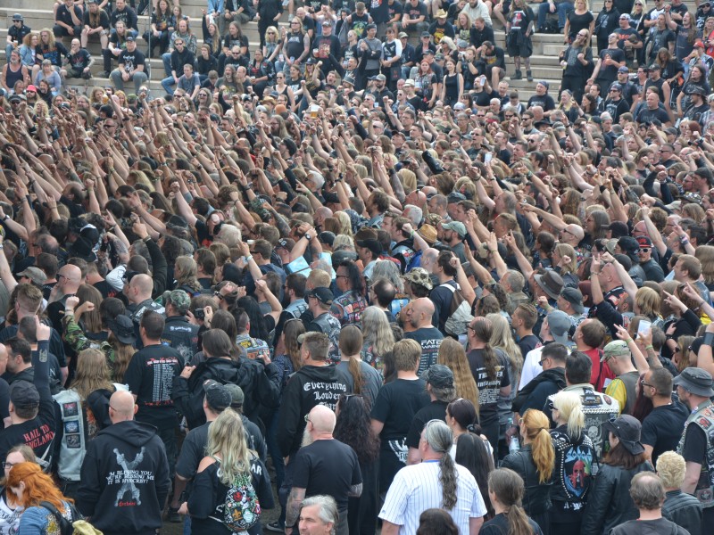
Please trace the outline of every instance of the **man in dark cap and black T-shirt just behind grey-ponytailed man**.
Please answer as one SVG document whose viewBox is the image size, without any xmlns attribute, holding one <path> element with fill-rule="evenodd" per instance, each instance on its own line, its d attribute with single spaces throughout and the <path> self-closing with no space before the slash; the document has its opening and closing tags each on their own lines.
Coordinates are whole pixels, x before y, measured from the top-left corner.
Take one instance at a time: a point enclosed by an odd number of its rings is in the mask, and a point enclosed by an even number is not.
<svg viewBox="0 0 714 535">
<path fill-rule="evenodd" d="M 446 407 L 456 399 L 456 386 L 453 383 L 453 372 L 448 366 L 435 364 L 427 369 L 421 377 L 427 382 L 427 393 L 431 403 L 421 407 L 411 419 L 411 427 L 407 433 L 407 465 L 421 462 L 419 454 L 419 433 L 424 425 L 431 420 L 445 420 Z"/>
</svg>

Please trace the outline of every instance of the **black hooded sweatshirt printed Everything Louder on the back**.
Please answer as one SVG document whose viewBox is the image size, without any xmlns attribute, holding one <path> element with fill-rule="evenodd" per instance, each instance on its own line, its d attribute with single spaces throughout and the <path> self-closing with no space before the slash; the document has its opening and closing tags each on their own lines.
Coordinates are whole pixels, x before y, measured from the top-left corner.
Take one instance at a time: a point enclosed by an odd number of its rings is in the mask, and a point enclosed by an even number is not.
<svg viewBox="0 0 714 535">
<path fill-rule="evenodd" d="M 278 447 L 283 457 L 300 449 L 305 429 L 304 417 L 316 405 L 335 410 L 337 401 L 349 388 L 335 366 L 303 366 L 290 377 L 280 404 Z"/>
</svg>

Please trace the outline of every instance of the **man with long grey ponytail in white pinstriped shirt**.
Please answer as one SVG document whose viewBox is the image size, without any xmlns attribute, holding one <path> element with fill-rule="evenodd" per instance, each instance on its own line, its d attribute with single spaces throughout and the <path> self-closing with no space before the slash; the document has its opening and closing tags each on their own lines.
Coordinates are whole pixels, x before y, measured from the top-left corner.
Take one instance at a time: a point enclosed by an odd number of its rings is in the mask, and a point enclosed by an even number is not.
<svg viewBox="0 0 714 535">
<path fill-rule="evenodd" d="M 424 426 L 419 440 L 421 463 L 405 466 L 395 476 L 379 512 L 382 535 L 416 533 L 419 515 L 436 507 L 451 514 L 460 533 L 477 533 L 486 514 L 474 476 L 456 465 L 449 451 L 452 432 L 441 420 Z"/>
</svg>

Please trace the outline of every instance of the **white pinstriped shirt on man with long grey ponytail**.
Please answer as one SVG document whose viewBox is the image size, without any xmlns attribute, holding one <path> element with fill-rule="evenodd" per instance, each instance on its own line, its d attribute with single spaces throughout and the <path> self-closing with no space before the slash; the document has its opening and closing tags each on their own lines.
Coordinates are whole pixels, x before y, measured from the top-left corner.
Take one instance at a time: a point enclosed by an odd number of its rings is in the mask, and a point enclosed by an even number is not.
<svg viewBox="0 0 714 535">
<path fill-rule="evenodd" d="M 486 506 L 469 470 L 456 465 L 456 471 L 456 505 L 448 513 L 461 535 L 468 535 L 469 519 L 484 516 Z M 419 515 L 430 508 L 442 508 L 442 498 L 437 461 L 405 466 L 394 476 L 379 518 L 400 526 L 400 535 L 411 535 L 419 528 Z"/>
</svg>

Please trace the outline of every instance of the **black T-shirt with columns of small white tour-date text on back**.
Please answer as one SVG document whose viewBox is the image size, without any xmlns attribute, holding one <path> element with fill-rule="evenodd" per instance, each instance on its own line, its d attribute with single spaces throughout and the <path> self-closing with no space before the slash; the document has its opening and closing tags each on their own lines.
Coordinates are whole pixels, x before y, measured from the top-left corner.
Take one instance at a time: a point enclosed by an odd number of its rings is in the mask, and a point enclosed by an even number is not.
<svg viewBox="0 0 714 535">
<path fill-rule="evenodd" d="M 161 344 L 146 346 L 134 354 L 124 382 L 137 396 L 137 421 L 160 429 L 176 423 L 171 387 L 182 365 L 179 351 Z"/>
</svg>

